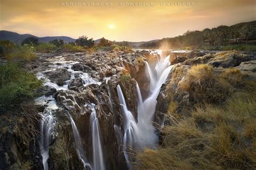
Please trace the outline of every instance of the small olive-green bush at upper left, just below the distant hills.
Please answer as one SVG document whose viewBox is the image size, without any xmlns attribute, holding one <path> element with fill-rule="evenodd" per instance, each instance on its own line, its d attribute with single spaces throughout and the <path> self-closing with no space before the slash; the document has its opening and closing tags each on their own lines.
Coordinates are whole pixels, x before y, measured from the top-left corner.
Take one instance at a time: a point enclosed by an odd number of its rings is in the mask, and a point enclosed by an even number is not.
<svg viewBox="0 0 256 170">
<path fill-rule="evenodd" d="M 34 53 L 34 47 L 29 45 L 23 45 L 12 49 L 11 52 L 6 54 L 7 60 L 25 60 L 31 61 L 36 59 Z"/>
</svg>

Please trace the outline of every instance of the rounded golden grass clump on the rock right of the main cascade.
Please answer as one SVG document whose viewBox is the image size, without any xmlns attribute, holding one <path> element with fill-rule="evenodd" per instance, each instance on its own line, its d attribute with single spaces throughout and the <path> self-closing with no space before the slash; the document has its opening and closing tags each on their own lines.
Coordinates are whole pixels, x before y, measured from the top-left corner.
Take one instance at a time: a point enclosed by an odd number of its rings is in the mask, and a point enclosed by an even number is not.
<svg viewBox="0 0 256 170">
<path fill-rule="evenodd" d="M 191 67 L 184 81 L 180 82 L 180 88 L 190 93 L 192 103 L 221 103 L 231 89 L 229 83 L 214 75 L 213 67 L 209 65 Z"/>
</svg>

